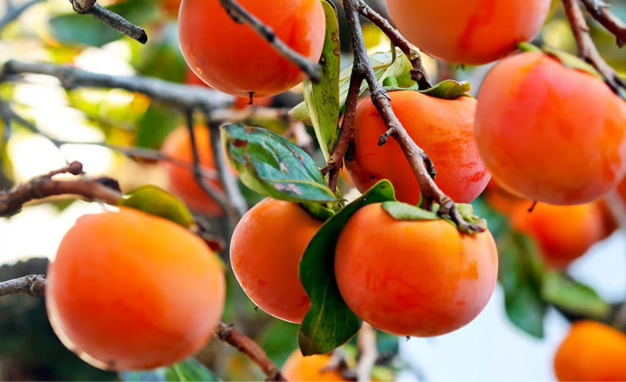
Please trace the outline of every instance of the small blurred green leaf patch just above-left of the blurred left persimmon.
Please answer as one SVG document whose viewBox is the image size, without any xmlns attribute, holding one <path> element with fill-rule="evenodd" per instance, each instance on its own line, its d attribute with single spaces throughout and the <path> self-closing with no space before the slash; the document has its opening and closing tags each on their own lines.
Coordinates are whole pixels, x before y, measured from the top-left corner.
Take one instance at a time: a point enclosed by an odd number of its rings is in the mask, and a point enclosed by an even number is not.
<svg viewBox="0 0 626 382">
<path fill-rule="evenodd" d="M 152 103 L 136 124 L 136 147 L 159 149 L 167 136 L 179 126 L 179 114 L 172 108 Z"/>
</svg>

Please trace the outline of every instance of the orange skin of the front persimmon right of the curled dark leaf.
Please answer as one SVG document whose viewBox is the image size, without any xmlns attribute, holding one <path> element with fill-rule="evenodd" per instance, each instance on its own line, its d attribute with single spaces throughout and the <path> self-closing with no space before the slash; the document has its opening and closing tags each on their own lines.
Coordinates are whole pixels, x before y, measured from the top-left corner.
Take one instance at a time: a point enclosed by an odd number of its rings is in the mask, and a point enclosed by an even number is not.
<svg viewBox="0 0 626 382">
<path fill-rule="evenodd" d="M 394 335 L 433 337 L 465 326 L 488 303 L 497 272 L 489 231 L 463 235 L 440 219 L 399 221 L 381 204 L 358 210 L 335 250 L 346 304 Z"/>
</svg>

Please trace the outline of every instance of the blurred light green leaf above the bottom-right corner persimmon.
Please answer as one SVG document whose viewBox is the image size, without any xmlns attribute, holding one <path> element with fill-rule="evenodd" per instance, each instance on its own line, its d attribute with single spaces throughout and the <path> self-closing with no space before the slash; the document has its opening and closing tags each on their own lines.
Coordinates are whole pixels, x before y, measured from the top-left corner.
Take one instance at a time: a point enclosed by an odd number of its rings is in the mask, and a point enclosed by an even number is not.
<svg viewBox="0 0 626 382">
<path fill-rule="evenodd" d="M 611 312 L 595 290 L 555 270 L 545 273 L 541 294 L 550 304 L 577 315 L 601 319 Z"/>
</svg>

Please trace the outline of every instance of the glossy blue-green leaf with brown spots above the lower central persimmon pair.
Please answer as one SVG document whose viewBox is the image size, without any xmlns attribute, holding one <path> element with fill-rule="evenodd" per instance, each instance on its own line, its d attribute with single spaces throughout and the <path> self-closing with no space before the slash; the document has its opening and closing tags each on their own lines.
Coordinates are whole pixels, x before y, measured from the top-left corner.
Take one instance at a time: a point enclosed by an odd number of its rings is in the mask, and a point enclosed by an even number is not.
<svg viewBox="0 0 626 382">
<path fill-rule="evenodd" d="M 298 203 L 337 201 L 309 154 L 280 135 L 230 124 L 222 126 L 221 138 L 243 184 L 259 194 Z"/>
</svg>

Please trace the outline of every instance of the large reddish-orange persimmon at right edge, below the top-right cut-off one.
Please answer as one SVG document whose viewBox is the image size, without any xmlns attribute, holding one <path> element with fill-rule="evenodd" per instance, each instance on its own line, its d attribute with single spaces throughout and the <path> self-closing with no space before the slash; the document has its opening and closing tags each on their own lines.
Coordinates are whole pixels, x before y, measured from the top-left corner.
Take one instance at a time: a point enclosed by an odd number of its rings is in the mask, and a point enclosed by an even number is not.
<svg viewBox="0 0 626 382">
<path fill-rule="evenodd" d="M 626 103 L 599 78 L 543 53 L 520 53 L 485 78 L 476 142 L 509 192 L 584 204 L 626 174 Z"/>
</svg>

